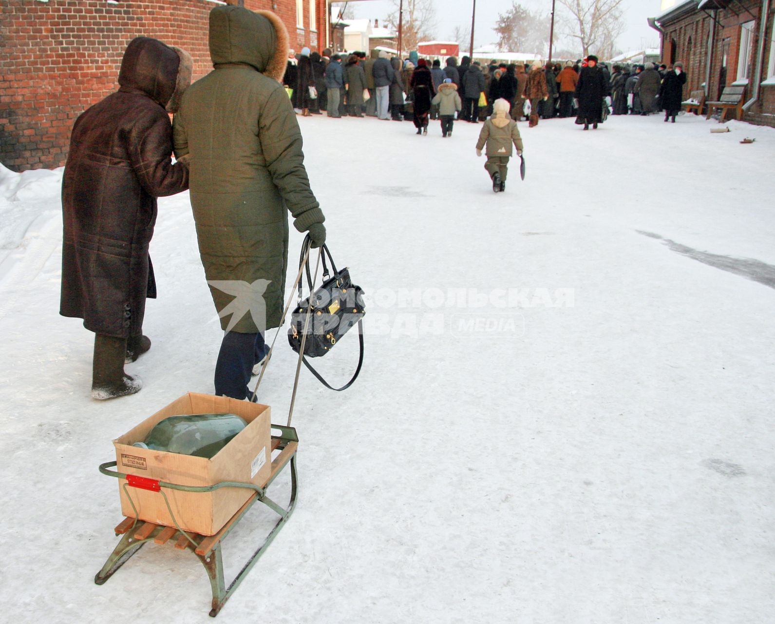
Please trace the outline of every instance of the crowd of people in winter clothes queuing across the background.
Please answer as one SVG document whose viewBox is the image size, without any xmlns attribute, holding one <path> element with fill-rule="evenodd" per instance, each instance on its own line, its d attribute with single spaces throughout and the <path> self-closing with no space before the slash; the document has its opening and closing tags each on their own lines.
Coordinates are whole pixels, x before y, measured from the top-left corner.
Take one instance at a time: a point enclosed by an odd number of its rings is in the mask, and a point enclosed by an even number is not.
<svg viewBox="0 0 775 624">
<path fill-rule="evenodd" d="M 301 115 L 372 116 L 414 122 L 428 133 L 430 119 L 440 119 L 442 136 L 451 136 L 454 121 L 484 122 L 494 102 L 504 99 L 508 115 L 527 120 L 576 117 L 584 129 L 613 115 L 650 115 L 664 111 L 675 122 L 686 83 L 683 64 L 656 67 L 615 64 L 611 69 L 588 56 L 564 64 L 480 64 L 463 57 L 442 61 L 391 57 L 372 50 L 344 54 L 309 48 L 291 50 L 284 84 Z M 455 91 L 455 95 L 452 95 Z M 443 111 L 441 110 L 443 109 Z"/>
</svg>

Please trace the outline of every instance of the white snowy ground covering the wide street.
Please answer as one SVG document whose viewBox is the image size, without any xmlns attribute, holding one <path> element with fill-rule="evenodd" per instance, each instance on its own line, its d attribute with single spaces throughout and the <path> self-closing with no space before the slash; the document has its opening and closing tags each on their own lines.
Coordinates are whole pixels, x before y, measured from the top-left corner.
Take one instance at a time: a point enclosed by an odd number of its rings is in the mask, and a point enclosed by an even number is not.
<svg viewBox="0 0 775 624">
<path fill-rule="evenodd" d="M 341 395 L 302 371 L 297 510 L 219 619 L 773 622 L 775 131 L 522 124 L 528 178 L 494 195 L 480 126 L 300 122 L 332 252 L 371 295 L 366 364 Z M 121 517 L 111 440 L 212 391 L 188 194 L 160 202 L 145 387 L 95 402 L 92 336 L 57 315 L 60 177 L 0 171 L 3 619 L 206 622 L 189 553 L 92 581 Z M 260 399 L 284 422 L 278 344 Z M 355 357 L 320 364 L 344 380 Z M 227 574 L 270 521 L 253 509 Z"/>
</svg>

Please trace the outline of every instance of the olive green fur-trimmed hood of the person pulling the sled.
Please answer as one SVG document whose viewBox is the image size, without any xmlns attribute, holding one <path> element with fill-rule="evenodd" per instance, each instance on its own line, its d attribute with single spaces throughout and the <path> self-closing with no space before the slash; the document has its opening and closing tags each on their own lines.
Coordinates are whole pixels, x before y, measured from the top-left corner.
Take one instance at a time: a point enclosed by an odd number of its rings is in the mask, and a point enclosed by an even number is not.
<svg viewBox="0 0 775 624">
<path fill-rule="evenodd" d="M 288 59 L 288 31 L 271 11 L 216 6 L 210 12 L 212 64 L 247 64 L 282 83 Z"/>
</svg>

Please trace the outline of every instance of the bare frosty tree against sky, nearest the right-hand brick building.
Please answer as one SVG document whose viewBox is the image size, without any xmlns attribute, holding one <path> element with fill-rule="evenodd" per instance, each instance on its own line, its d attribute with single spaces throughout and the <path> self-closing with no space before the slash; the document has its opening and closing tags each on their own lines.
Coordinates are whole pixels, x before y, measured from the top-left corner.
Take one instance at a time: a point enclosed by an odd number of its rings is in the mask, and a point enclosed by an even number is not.
<svg viewBox="0 0 775 624">
<path fill-rule="evenodd" d="M 624 29 L 623 0 L 558 0 L 565 11 L 560 15 L 564 35 L 578 40 L 581 51 L 609 58 Z"/>
</svg>

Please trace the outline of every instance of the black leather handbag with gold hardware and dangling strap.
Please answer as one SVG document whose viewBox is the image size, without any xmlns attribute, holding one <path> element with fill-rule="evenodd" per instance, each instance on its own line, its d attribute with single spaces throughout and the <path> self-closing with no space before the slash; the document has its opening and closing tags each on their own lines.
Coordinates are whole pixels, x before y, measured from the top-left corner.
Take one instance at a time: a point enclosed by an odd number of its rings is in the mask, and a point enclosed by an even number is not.
<svg viewBox="0 0 775 624">
<path fill-rule="evenodd" d="M 299 267 L 304 262 L 305 250 L 308 245 L 308 237 L 305 238 L 301 246 L 301 258 Z M 325 257 L 331 263 L 332 273 L 329 273 L 329 266 Z M 291 312 L 291 329 L 288 329 L 288 343 L 291 348 L 298 353 L 301 349 L 301 338 L 304 334 L 305 323 L 307 325 L 307 339 L 304 343 L 304 356 L 302 361 L 305 367 L 315 375 L 326 388 L 334 391 L 343 391 L 353 384 L 360 374 L 360 368 L 363 366 L 363 290 L 360 286 L 353 284 L 350 280 L 350 271 L 345 267 L 341 271 L 337 270 L 336 264 L 331 256 L 329 248 L 323 245 L 322 248 L 323 264 L 323 283 L 312 293 L 312 309 L 310 309 L 310 298 L 301 298 L 301 282 L 298 283 L 298 305 Z M 312 274 L 309 270 L 309 259 L 307 259 L 305 271 L 307 274 L 307 284 L 312 291 Z M 307 321 L 307 313 L 310 313 Z M 322 357 L 339 343 L 353 326 L 358 326 L 358 340 L 360 343 L 360 356 L 358 357 L 358 367 L 353 378 L 350 379 L 342 388 L 332 388 L 332 386 L 323 379 L 318 371 L 307 361 L 308 357 Z"/>
</svg>

